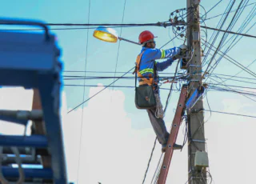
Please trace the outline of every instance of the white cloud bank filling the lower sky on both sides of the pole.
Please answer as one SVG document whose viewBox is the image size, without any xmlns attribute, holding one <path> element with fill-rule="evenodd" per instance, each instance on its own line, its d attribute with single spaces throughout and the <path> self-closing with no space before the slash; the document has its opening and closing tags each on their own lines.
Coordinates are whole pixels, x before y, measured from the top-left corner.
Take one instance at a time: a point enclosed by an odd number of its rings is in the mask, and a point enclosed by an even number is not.
<svg viewBox="0 0 256 184">
<path fill-rule="evenodd" d="M 90 88 L 90 95 L 102 90 Z M 30 110 L 31 90 L 0 89 L 1 109 Z M 79 183 L 142 183 L 155 134 L 152 128 L 131 129 L 124 110 L 126 96 L 120 90 L 106 89 L 92 98 L 83 110 L 82 146 Z M 226 104 L 233 104 L 226 106 Z M 220 111 L 239 113 L 242 101 L 225 101 Z M 134 107 L 135 108 L 135 107 Z M 62 94 L 62 124 L 66 147 L 66 162 L 70 182 L 76 182 L 78 153 L 82 122 L 82 108 L 66 114 L 66 94 Z M 208 113 L 207 113 L 208 114 Z M 206 116 L 207 117 L 207 116 Z M 22 126 L 0 122 L 1 133 L 23 134 Z M 167 125 L 170 122 L 166 123 Z M 182 125 L 183 126 L 183 125 Z M 169 130 L 169 127 L 167 126 Z M 256 150 L 253 135 L 256 125 L 253 118 L 238 118 L 226 114 L 212 114 L 206 124 L 206 138 L 210 158 L 210 172 L 215 183 L 253 183 Z M 183 127 L 178 134 L 182 143 Z M 158 164 L 161 147 L 157 142 L 146 182 L 150 183 Z M 234 177 L 235 175 L 235 177 Z M 245 180 L 246 178 L 246 180 Z M 185 183 L 187 180 L 187 149 L 175 151 L 166 183 Z"/>
</svg>

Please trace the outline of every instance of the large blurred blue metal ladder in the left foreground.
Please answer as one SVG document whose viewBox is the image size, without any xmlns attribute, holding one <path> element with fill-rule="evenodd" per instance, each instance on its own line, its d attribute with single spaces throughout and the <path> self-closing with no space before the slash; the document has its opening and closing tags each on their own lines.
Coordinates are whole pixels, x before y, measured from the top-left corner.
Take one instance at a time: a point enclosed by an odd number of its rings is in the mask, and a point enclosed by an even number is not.
<svg viewBox="0 0 256 184">
<path fill-rule="evenodd" d="M 0 110 L 1 120 L 23 126 L 32 121 L 30 135 L 0 135 L 0 175 L 7 183 L 66 184 L 59 112 L 62 62 L 55 37 L 42 22 L 0 19 L 0 24 L 44 30 L 44 34 L 0 31 L 0 86 L 34 90 L 32 110 Z M 22 170 L 14 167 L 17 163 Z"/>
</svg>

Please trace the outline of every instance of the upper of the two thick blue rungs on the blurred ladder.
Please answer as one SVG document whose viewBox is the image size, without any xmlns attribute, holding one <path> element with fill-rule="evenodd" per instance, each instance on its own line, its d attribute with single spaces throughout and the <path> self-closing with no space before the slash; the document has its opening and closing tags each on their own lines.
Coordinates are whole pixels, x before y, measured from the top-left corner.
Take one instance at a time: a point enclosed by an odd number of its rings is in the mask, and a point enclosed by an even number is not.
<svg viewBox="0 0 256 184">
<path fill-rule="evenodd" d="M 0 135 L 0 146 L 25 146 L 40 147 L 48 146 L 47 138 L 43 135 Z"/>
</svg>

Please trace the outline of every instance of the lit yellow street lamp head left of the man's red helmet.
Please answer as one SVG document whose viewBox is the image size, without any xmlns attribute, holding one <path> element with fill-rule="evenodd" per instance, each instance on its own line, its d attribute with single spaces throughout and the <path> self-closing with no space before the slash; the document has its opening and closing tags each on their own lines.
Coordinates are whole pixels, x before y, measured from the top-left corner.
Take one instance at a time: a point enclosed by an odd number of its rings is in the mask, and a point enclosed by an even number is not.
<svg viewBox="0 0 256 184">
<path fill-rule="evenodd" d="M 105 42 L 118 42 L 118 33 L 106 26 L 99 26 L 94 30 L 94 37 Z"/>
</svg>

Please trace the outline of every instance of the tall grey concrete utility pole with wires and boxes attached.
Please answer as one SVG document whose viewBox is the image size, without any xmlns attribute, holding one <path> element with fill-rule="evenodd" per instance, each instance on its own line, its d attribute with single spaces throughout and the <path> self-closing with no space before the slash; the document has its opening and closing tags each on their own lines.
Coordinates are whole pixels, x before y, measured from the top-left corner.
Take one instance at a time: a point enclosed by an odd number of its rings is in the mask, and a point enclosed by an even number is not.
<svg viewBox="0 0 256 184">
<path fill-rule="evenodd" d="M 190 78 L 188 79 L 189 94 L 200 86 L 202 82 L 202 51 L 200 38 L 200 0 L 186 0 L 188 8 L 187 23 L 187 46 L 189 50 L 194 50 L 192 60 L 187 66 Z M 191 8 L 192 7 L 192 8 Z M 196 8 L 195 10 L 193 9 Z M 191 54 L 190 54 L 191 55 Z M 207 183 L 206 167 L 208 166 L 208 156 L 205 152 L 206 143 L 204 135 L 204 115 L 202 97 L 188 114 L 188 180 L 189 184 Z"/>
</svg>

